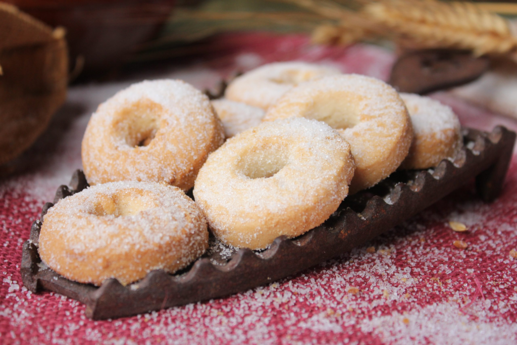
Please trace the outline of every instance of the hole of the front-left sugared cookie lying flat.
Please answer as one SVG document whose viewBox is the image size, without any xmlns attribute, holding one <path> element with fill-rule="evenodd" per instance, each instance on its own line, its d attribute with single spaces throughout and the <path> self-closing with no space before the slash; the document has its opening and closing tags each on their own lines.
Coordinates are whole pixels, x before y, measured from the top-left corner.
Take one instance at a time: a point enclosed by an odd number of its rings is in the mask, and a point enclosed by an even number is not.
<svg viewBox="0 0 517 345">
<path fill-rule="evenodd" d="M 120 191 L 112 195 L 100 194 L 96 198 L 92 213 L 99 217 L 132 216 L 156 206 L 156 202 L 150 196 L 140 191 Z"/>
</svg>

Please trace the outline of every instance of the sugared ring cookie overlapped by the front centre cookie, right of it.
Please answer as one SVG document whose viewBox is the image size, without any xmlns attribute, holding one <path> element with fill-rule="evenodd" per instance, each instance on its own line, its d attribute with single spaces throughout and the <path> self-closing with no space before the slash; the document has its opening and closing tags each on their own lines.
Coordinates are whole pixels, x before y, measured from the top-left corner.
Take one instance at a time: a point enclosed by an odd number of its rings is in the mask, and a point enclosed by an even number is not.
<svg viewBox="0 0 517 345">
<path fill-rule="evenodd" d="M 397 170 L 413 138 L 409 115 L 395 89 L 358 74 L 300 84 L 271 107 L 263 121 L 292 116 L 326 122 L 350 143 L 356 163 L 351 194 Z"/>
</svg>

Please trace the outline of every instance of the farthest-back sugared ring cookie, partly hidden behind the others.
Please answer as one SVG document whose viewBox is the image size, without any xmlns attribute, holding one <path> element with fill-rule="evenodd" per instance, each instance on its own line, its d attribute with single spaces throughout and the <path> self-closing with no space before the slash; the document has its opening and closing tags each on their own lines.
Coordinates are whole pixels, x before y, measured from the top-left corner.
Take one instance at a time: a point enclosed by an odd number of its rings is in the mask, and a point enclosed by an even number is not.
<svg viewBox="0 0 517 345">
<path fill-rule="evenodd" d="M 267 64 L 235 78 L 224 97 L 267 110 L 297 84 L 339 73 L 335 68 L 305 62 Z"/>
</svg>

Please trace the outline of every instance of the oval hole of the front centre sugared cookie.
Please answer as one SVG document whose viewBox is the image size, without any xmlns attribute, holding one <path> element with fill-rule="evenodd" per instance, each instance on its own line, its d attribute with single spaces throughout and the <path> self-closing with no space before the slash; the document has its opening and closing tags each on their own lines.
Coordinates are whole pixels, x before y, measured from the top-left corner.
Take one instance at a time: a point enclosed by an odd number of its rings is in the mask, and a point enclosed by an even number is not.
<svg viewBox="0 0 517 345">
<path fill-rule="evenodd" d="M 277 146 L 254 148 L 241 156 L 237 163 L 237 169 L 245 176 L 255 178 L 268 178 L 287 164 L 285 149 Z"/>
</svg>

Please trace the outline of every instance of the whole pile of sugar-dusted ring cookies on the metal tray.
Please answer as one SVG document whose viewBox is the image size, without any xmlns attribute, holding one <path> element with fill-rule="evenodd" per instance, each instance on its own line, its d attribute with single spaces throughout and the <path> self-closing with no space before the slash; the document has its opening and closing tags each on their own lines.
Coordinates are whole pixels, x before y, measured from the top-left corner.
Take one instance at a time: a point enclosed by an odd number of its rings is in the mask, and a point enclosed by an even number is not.
<svg viewBox="0 0 517 345">
<path fill-rule="evenodd" d="M 329 67 L 265 65 L 212 101 L 183 81 L 144 81 L 92 115 L 82 142 L 90 187 L 44 216 L 39 253 L 97 286 L 174 273 L 205 252 L 208 231 L 266 248 L 322 224 L 348 194 L 461 146 L 449 107 Z"/>
</svg>

